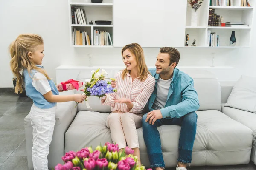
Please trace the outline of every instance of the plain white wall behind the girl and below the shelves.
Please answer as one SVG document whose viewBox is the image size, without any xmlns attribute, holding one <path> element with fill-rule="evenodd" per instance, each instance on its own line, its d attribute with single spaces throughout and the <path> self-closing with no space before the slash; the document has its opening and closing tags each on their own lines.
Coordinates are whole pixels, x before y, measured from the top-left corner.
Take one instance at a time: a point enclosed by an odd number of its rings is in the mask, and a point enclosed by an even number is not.
<svg viewBox="0 0 256 170">
<path fill-rule="evenodd" d="M 67 0 L 0 0 L 0 87 L 13 87 L 8 53 L 9 44 L 22 33 L 40 34 L 44 38 L 43 65 L 55 80 L 55 68 L 59 65 L 121 65 L 121 48 L 72 48 L 69 42 L 69 14 Z M 256 17 L 254 17 L 256 19 Z M 240 74 L 256 76 L 256 21 L 252 29 L 251 48 L 245 49 L 185 49 L 179 48 L 179 65 L 211 65 L 211 53 L 215 52 L 216 65 L 236 67 L 224 71 L 222 81 L 236 80 Z M 184 38 L 185 40 L 185 38 Z M 143 48 L 146 62 L 154 65 L 159 48 Z"/>
</svg>

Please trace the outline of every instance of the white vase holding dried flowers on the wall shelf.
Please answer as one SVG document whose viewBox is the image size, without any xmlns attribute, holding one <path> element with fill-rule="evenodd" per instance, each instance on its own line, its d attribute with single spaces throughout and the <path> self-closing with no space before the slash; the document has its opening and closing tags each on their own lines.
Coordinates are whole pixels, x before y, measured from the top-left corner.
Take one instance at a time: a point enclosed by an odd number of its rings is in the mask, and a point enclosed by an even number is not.
<svg viewBox="0 0 256 170">
<path fill-rule="evenodd" d="M 190 7 L 192 8 L 191 10 L 191 26 L 197 26 L 198 24 L 198 9 L 203 3 L 204 0 L 188 0 L 188 3 Z M 193 10 L 195 9 L 195 10 Z"/>
</svg>

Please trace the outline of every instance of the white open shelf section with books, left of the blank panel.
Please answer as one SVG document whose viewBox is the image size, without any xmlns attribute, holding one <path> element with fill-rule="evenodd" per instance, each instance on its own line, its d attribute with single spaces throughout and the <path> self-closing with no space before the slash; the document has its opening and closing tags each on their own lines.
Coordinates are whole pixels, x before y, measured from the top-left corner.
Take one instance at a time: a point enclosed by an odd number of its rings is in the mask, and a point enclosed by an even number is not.
<svg viewBox="0 0 256 170">
<path fill-rule="evenodd" d="M 109 40 L 109 45 L 94 45 L 93 31 L 98 29 L 99 31 L 108 31 L 113 42 L 113 1 L 104 0 L 102 3 L 91 3 L 91 0 L 69 0 L 69 22 L 70 22 L 70 45 L 76 48 L 113 48 Z M 87 24 L 72 24 L 71 7 L 84 9 L 87 18 Z M 111 21 L 111 25 L 97 25 L 97 20 Z M 90 25 L 89 22 L 93 22 Z M 73 31 L 74 29 L 79 31 L 86 31 L 90 38 L 90 45 L 73 45 Z"/>
</svg>

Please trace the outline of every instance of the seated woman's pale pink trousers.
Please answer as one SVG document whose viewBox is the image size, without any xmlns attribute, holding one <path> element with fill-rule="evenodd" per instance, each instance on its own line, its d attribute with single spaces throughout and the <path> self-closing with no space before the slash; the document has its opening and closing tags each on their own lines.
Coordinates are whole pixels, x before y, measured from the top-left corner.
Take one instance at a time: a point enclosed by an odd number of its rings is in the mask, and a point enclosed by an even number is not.
<svg viewBox="0 0 256 170">
<path fill-rule="evenodd" d="M 139 147 L 137 128 L 142 127 L 142 114 L 130 112 L 112 112 L 107 118 L 107 127 L 111 132 L 111 139 L 119 145 L 119 149 Z"/>
</svg>

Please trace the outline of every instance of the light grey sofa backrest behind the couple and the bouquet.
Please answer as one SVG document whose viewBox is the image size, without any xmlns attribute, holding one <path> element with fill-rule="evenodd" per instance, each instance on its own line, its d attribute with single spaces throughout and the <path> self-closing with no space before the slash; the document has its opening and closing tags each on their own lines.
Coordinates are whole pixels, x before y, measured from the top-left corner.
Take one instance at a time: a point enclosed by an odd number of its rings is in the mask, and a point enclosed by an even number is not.
<svg viewBox="0 0 256 170">
<path fill-rule="evenodd" d="M 103 68 L 103 67 L 102 67 Z M 97 68 L 85 69 L 80 71 L 76 80 L 84 82 L 85 79 L 91 78 L 91 71 Z M 108 78 L 114 78 L 115 74 L 119 72 L 120 68 L 105 69 Z M 198 99 L 200 108 L 198 110 L 221 110 L 221 87 L 216 79 L 215 75 L 209 71 L 204 70 L 183 70 L 186 74 L 189 74 L 194 79 L 194 87 L 198 93 Z M 80 88 L 82 89 L 82 88 Z M 81 91 L 75 91 L 75 93 L 82 93 Z M 102 106 L 100 99 L 95 96 L 90 96 L 87 99 L 91 109 L 87 108 L 85 102 L 78 104 L 77 111 L 98 111 L 98 112 L 111 112 L 109 106 Z"/>
</svg>

